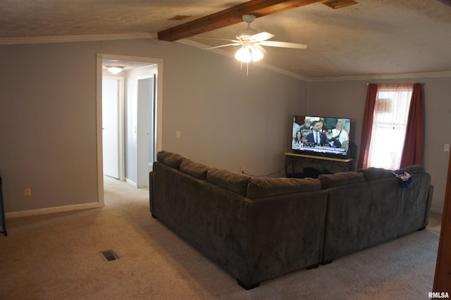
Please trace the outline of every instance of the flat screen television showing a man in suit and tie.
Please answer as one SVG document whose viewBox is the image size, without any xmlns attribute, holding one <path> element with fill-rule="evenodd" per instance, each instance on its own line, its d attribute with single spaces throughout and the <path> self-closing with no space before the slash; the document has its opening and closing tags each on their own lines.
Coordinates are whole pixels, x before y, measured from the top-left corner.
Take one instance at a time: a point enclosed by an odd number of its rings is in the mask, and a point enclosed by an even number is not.
<svg viewBox="0 0 451 300">
<path fill-rule="evenodd" d="M 350 157 L 350 118 L 293 115 L 291 149 L 295 154 Z"/>
</svg>

